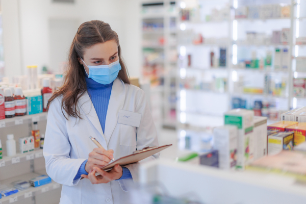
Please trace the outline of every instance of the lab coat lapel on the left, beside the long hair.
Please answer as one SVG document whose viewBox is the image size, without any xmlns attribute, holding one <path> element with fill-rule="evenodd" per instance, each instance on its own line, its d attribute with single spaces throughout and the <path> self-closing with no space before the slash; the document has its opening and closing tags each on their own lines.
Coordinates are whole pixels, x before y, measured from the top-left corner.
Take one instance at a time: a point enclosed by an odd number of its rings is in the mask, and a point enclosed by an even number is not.
<svg viewBox="0 0 306 204">
<path fill-rule="evenodd" d="M 85 91 L 83 96 L 80 98 L 80 107 L 81 107 L 80 109 L 82 109 L 84 111 L 85 117 L 87 117 L 90 120 L 90 122 L 97 129 L 97 131 L 102 135 L 102 137 L 105 139 L 105 141 L 107 143 L 107 140 L 106 140 L 106 138 L 103 134 L 103 130 L 102 130 L 98 115 L 97 115 L 97 113 L 94 109 L 94 106 L 92 104 L 92 101 L 91 101 L 87 91 Z M 82 116 L 82 117 L 84 117 L 84 116 Z M 92 135 L 92 136 L 94 137 L 94 135 Z"/>
</svg>

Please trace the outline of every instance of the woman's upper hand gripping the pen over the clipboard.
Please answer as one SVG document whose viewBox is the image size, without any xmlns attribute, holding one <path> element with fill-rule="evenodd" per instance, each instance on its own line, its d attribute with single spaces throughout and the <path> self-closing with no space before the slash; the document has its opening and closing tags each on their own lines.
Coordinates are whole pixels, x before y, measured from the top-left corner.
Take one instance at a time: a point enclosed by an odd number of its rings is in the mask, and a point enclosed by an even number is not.
<svg viewBox="0 0 306 204">
<path fill-rule="evenodd" d="M 102 148 L 94 148 L 92 152 L 90 152 L 88 155 L 88 160 L 85 165 L 85 171 L 89 173 L 90 170 L 93 170 L 93 167 L 95 166 L 101 168 L 107 165 L 111 161 L 111 159 L 114 158 L 113 154 L 113 149 L 105 150 Z"/>
</svg>

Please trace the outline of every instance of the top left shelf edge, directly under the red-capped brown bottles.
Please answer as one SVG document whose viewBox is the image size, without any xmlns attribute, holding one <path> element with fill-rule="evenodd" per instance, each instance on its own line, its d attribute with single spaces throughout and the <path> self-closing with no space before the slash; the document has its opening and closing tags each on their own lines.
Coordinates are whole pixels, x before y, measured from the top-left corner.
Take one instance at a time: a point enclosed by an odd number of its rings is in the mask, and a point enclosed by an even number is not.
<svg viewBox="0 0 306 204">
<path fill-rule="evenodd" d="M 13 118 L 6 118 L 0 120 L 0 128 L 3 127 L 12 127 L 19 124 L 29 124 L 35 121 L 46 120 L 48 112 L 33 114 L 33 115 L 24 115 L 24 116 L 15 116 Z"/>
</svg>

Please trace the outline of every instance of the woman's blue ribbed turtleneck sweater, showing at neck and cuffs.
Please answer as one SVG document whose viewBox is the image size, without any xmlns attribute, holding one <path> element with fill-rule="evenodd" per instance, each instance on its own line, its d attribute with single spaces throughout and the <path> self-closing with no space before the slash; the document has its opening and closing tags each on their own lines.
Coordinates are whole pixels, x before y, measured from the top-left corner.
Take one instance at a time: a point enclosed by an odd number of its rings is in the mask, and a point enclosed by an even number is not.
<svg viewBox="0 0 306 204">
<path fill-rule="evenodd" d="M 110 97 L 111 97 L 113 82 L 110 84 L 104 85 L 104 84 L 97 83 L 94 80 L 88 78 L 86 73 L 84 73 L 84 75 L 85 75 L 85 80 L 86 80 L 87 92 L 92 101 L 93 107 L 97 113 L 97 116 L 99 118 L 99 121 L 102 127 L 102 131 L 104 133 L 107 108 L 108 108 Z M 85 160 L 82 163 L 77 175 L 75 175 L 74 177 L 74 180 L 79 179 L 82 174 L 88 175 L 88 173 L 85 171 L 86 162 L 87 160 Z M 122 176 L 118 180 L 121 180 L 121 179 L 132 179 L 131 172 L 128 168 L 122 167 Z"/>
</svg>

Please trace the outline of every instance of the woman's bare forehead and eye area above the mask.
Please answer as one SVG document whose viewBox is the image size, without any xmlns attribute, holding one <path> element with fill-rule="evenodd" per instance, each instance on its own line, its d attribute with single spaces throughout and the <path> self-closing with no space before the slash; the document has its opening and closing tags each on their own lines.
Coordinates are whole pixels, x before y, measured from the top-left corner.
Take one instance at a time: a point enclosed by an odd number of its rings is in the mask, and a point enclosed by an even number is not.
<svg viewBox="0 0 306 204">
<path fill-rule="evenodd" d="M 115 40 L 104 43 L 97 43 L 85 48 L 84 58 L 109 58 L 118 52 L 118 45 Z"/>
</svg>

